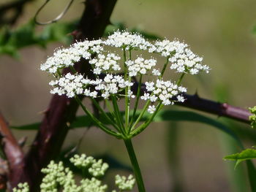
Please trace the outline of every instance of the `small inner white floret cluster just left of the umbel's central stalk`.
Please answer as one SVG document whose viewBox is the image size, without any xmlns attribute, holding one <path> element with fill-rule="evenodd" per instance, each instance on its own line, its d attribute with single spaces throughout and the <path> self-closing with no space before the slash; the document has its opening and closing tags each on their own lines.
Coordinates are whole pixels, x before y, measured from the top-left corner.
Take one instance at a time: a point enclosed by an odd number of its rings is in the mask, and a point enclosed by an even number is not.
<svg viewBox="0 0 256 192">
<path fill-rule="evenodd" d="M 118 61 L 120 61 L 121 57 L 114 54 L 108 53 L 107 56 L 99 54 L 97 58 L 92 58 L 89 61 L 89 64 L 94 65 L 94 74 L 101 74 L 102 72 L 117 72 L 121 70 Z"/>
</svg>

